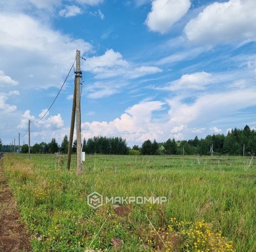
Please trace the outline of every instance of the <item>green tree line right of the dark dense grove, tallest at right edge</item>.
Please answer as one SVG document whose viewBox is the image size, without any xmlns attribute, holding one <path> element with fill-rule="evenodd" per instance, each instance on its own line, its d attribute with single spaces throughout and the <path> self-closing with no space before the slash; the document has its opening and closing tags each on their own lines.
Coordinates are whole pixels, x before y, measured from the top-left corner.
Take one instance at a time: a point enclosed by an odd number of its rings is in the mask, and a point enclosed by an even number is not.
<svg viewBox="0 0 256 252">
<path fill-rule="evenodd" d="M 158 144 L 158 148 L 157 148 Z M 210 147 L 213 146 L 214 155 L 250 155 L 256 153 L 256 131 L 251 130 L 248 125 L 244 129 L 235 128 L 228 134 L 207 135 L 205 138 L 175 141 L 168 139 L 163 143 L 154 140 L 146 140 L 142 147 L 133 146 L 143 155 L 210 155 Z"/>
</svg>

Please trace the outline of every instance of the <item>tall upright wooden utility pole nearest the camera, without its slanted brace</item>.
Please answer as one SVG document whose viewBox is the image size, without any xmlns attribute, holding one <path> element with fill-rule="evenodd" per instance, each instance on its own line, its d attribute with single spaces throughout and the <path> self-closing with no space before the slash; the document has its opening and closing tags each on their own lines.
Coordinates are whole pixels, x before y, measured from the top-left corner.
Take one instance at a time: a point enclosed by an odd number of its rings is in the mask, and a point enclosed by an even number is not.
<svg viewBox="0 0 256 252">
<path fill-rule="evenodd" d="M 80 107 L 80 51 L 76 51 L 76 174 L 82 172 L 82 163 L 81 163 L 81 107 Z"/>
</svg>

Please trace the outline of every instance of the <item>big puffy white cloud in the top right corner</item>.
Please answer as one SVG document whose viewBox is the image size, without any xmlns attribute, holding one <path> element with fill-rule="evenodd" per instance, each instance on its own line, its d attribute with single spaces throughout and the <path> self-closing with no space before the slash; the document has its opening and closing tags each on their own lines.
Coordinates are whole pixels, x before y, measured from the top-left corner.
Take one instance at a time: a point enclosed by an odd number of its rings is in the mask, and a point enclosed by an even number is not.
<svg viewBox="0 0 256 252">
<path fill-rule="evenodd" d="M 256 40 L 256 1 L 214 2 L 185 27 L 188 40 L 210 45 Z"/>
</svg>

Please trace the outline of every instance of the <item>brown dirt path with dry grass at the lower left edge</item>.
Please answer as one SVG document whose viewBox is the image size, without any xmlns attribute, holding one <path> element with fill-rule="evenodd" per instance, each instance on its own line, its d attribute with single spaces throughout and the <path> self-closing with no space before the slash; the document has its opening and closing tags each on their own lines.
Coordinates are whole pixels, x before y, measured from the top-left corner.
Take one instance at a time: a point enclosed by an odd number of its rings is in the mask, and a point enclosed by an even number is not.
<svg viewBox="0 0 256 252">
<path fill-rule="evenodd" d="M 0 158 L 0 252 L 30 251 L 30 235 L 26 234 L 20 218 Z"/>
</svg>

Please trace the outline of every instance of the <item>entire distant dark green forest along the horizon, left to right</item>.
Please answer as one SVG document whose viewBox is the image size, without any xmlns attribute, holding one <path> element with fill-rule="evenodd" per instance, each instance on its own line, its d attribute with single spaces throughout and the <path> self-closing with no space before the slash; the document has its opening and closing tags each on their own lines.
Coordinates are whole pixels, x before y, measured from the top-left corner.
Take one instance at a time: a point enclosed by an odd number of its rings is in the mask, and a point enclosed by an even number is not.
<svg viewBox="0 0 256 252">
<path fill-rule="evenodd" d="M 65 136 L 59 145 L 55 138 L 50 143 L 36 143 L 31 146 L 31 153 L 68 153 L 68 137 Z M 224 134 L 208 135 L 206 138 L 175 141 L 168 139 L 166 142 L 144 141 L 141 147 L 134 145 L 127 147 L 126 139 L 122 137 L 95 136 L 83 140 L 82 151 L 87 154 L 114 154 L 114 155 L 210 155 L 210 147 L 213 146 L 214 155 L 250 155 L 256 153 L 256 131 L 248 125 L 244 129 L 232 129 Z M 16 146 L 16 150 L 18 146 Z M 76 140 L 73 143 L 73 153 L 76 153 Z M 2 145 L 0 139 L 0 151 L 10 152 L 10 145 Z M 14 151 L 14 146 L 12 146 Z M 28 145 L 21 146 L 22 153 L 28 153 Z"/>
</svg>

